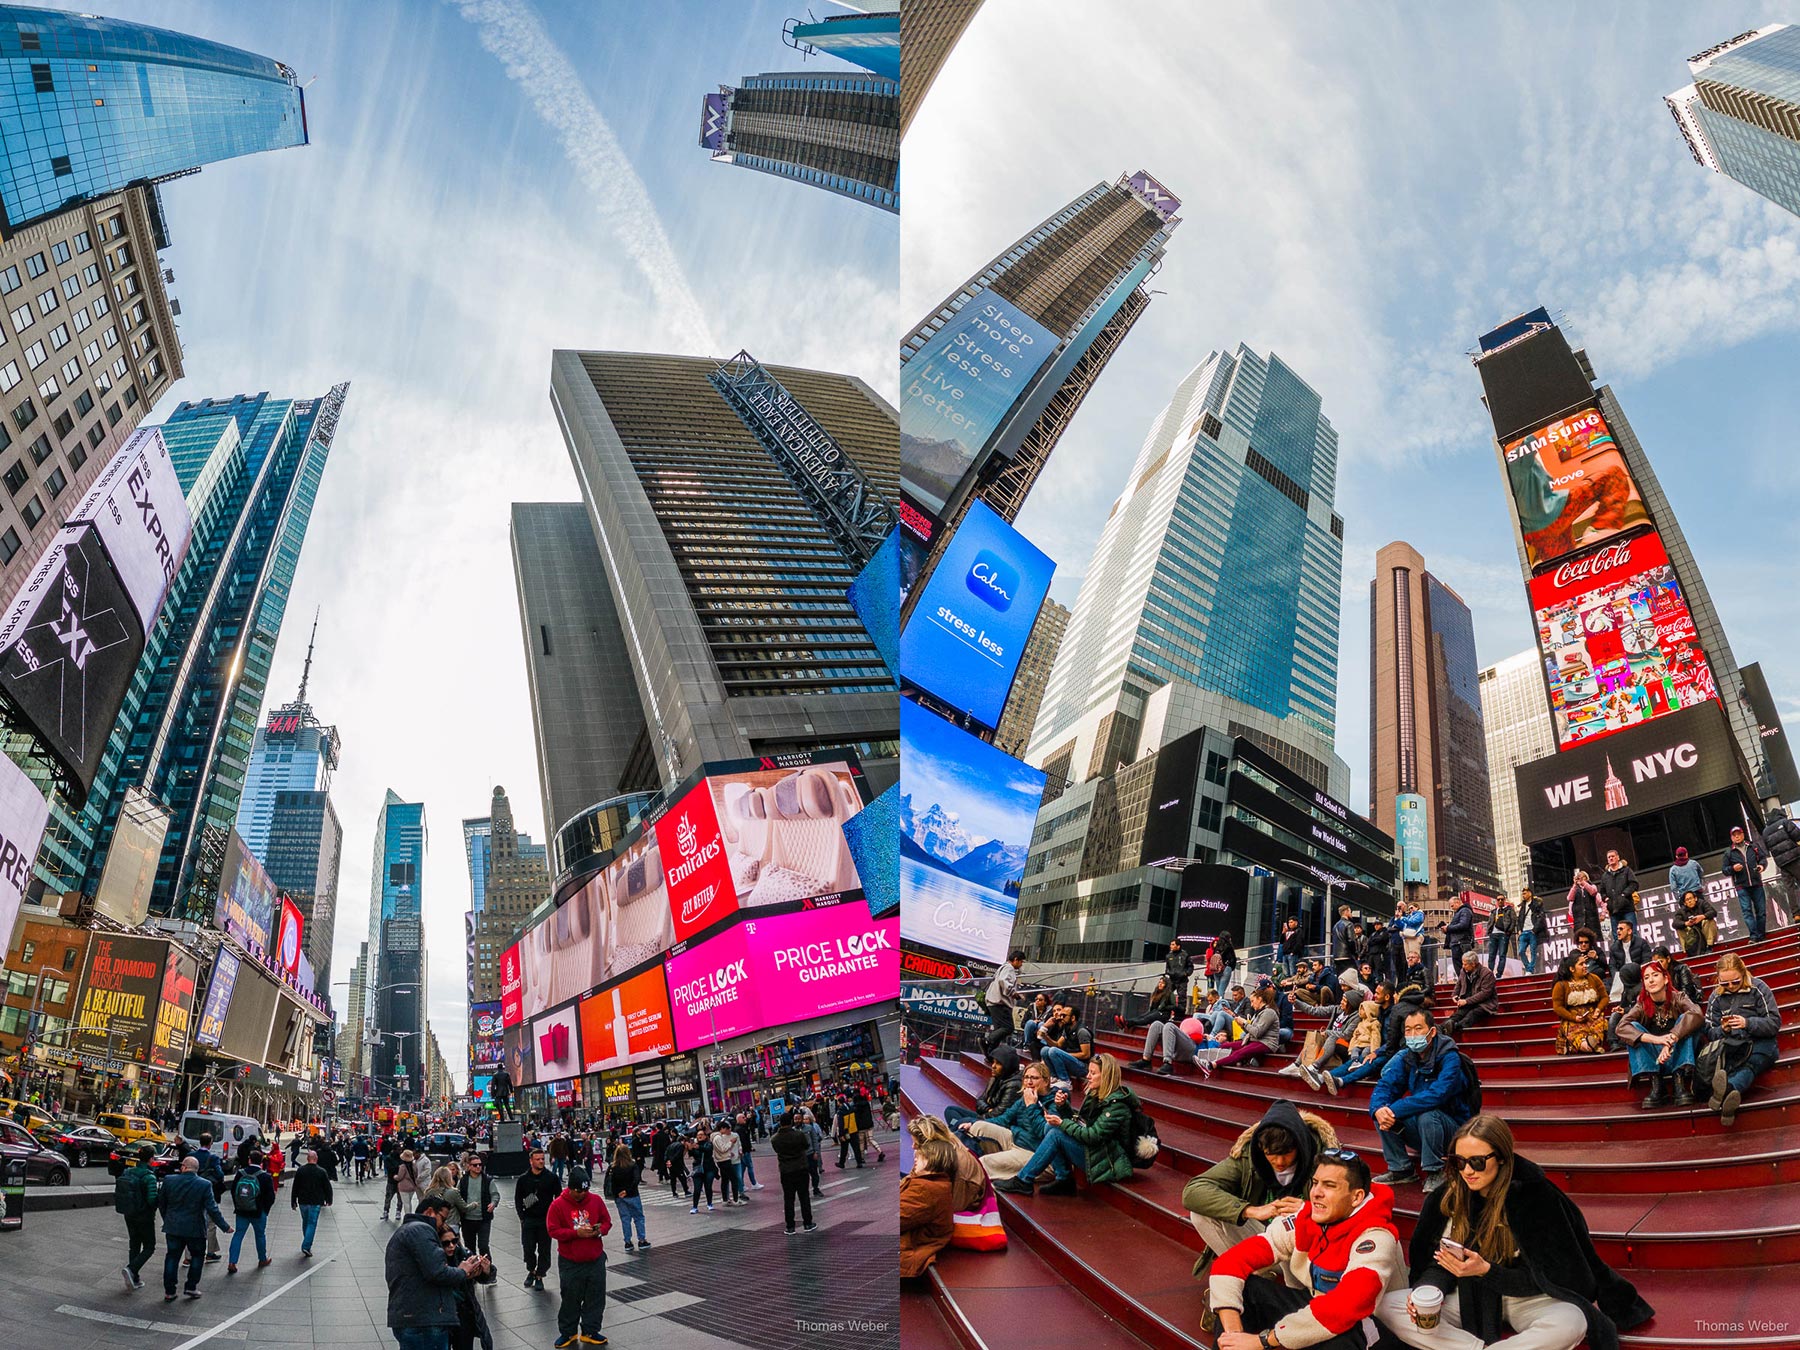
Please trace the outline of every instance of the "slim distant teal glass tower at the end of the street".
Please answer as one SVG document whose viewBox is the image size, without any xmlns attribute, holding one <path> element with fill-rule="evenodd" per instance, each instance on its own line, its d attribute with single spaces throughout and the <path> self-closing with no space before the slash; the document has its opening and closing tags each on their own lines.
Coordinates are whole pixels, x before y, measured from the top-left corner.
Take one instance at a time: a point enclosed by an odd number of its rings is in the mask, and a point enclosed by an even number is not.
<svg viewBox="0 0 1800 1350">
<path fill-rule="evenodd" d="M 374 819 L 374 857 L 369 866 L 369 965 L 367 1006 L 374 1010 L 376 1040 L 371 1076 L 391 1084 L 400 1064 L 414 1066 L 412 1091 L 419 1087 L 418 1064 L 425 1046 L 428 970 L 425 959 L 425 803 L 401 801 L 392 788 Z M 410 1042 L 410 1044 L 409 1044 Z"/>
</svg>

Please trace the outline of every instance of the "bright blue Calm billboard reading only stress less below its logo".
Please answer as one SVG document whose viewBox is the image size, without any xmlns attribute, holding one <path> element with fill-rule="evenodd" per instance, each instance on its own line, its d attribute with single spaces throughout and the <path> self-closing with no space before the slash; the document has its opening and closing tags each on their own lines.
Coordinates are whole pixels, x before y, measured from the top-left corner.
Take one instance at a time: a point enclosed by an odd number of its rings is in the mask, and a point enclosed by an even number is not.
<svg viewBox="0 0 1800 1350">
<path fill-rule="evenodd" d="M 900 632 L 900 679 L 997 727 L 1055 571 L 994 508 L 970 506 Z"/>
</svg>

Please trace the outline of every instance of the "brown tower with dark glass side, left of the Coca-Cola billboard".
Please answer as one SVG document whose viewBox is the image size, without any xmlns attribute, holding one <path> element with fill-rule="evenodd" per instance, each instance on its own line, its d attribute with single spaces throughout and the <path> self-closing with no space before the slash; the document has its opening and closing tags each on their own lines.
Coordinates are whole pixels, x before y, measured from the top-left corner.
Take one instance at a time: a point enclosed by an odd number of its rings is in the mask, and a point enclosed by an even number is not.
<svg viewBox="0 0 1800 1350">
<path fill-rule="evenodd" d="M 1438 923 L 1460 891 L 1499 889 L 1474 619 L 1409 544 L 1375 554 L 1368 599 L 1368 817 L 1399 841 L 1406 896 Z M 1411 812 L 1422 819 L 1402 821 Z"/>
</svg>

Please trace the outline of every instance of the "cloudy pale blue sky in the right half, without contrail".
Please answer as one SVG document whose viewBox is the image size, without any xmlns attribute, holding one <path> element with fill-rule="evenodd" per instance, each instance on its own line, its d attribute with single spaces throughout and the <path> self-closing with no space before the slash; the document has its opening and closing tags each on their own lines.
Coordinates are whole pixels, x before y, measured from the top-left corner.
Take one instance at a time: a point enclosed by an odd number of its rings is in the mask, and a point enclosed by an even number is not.
<svg viewBox="0 0 1800 1350">
<path fill-rule="evenodd" d="M 1483 664 L 1532 641 L 1467 351 L 1546 304 L 1649 450 L 1733 655 L 1800 716 L 1800 220 L 1694 164 L 1661 103 L 1688 54 L 1789 18 L 988 0 L 907 137 L 904 322 L 1098 180 L 1145 167 L 1184 200 L 1161 293 L 1019 526 L 1073 603 L 1181 376 L 1240 340 L 1280 353 L 1341 437 L 1337 751 L 1363 810 L 1375 549 L 1420 549 Z"/>
</svg>

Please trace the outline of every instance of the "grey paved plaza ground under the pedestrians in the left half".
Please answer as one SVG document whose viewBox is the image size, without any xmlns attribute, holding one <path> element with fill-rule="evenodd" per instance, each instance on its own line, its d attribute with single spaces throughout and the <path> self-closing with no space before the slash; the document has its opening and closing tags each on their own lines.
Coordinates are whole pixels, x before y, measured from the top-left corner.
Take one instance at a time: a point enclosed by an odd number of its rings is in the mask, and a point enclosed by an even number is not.
<svg viewBox="0 0 1800 1350">
<path fill-rule="evenodd" d="M 607 1238 L 605 1332 L 616 1346 L 713 1350 L 715 1346 L 857 1345 L 898 1346 L 895 1303 L 895 1213 L 898 1145 L 887 1161 L 859 1172 L 824 1168 L 819 1231 L 781 1231 L 781 1192 L 774 1159 L 765 1190 L 749 1206 L 688 1213 L 686 1199 L 644 1177 L 648 1253 L 626 1253 L 619 1229 Z M 95 1168 L 88 1168 L 94 1172 Z M 104 1181 L 104 1174 L 92 1181 Z M 79 1184 L 79 1179 L 77 1179 Z M 493 1233 L 499 1283 L 481 1291 L 497 1350 L 547 1350 L 556 1339 L 556 1274 L 547 1292 L 520 1285 L 518 1222 L 502 1181 Z M 43 1188 L 32 1186 L 27 1206 Z M 164 1303 L 160 1251 L 144 1267 L 144 1289 L 128 1292 L 124 1224 L 106 1208 L 27 1210 L 25 1229 L 0 1233 L 0 1309 L 7 1345 L 32 1350 L 133 1346 L 189 1350 L 209 1343 L 274 1346 L 392 1345 L 387 1330 L 383 1246 L 398 1224 L 382 1222 L 382 1184 L 344 1183 L 320 1219 L 313 1260 L 299 1255 L 299 1215 L 283 1186 L 270 1215 L 274 1265 L 256 1269 L 247 1238 L 238 1274 L 209 1265 L 202 1298 Z M 608 1206 L 610 1208 L 610 1206 Z M 617 1222 L 617 1215 L 614 1215 Z M 223 1235 L 221 1235 L 223 1238 Z M 223 1238 L 229 1244 L 229 1238 Z M 884 1312 L 877 1312 L 884 1310 Z M 886 1316 L 886 1325 L 851 1319 Z M 817 1330 L 835 1325 L 839 1330 Z M 812 1330 L 808 1330 L 808 1327 Z"/>
</svg>

